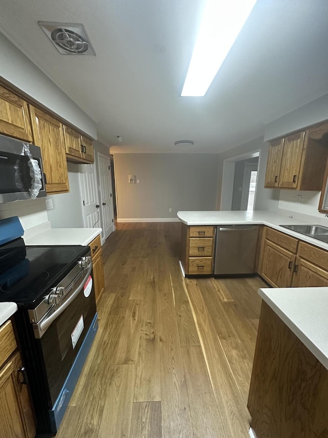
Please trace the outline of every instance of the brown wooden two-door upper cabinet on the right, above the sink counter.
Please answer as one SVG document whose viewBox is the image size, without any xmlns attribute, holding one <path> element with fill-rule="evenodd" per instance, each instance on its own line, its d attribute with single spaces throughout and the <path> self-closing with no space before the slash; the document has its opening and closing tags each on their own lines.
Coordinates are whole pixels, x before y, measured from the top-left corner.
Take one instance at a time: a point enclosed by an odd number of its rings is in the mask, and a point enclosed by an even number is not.
<svg viewBox="0 0 328 438">
<path fill-rule="evenodd" d="M 328 156 L 328 124 L 270 144 L 264 187 L 320 191 Z"/>
</svg>

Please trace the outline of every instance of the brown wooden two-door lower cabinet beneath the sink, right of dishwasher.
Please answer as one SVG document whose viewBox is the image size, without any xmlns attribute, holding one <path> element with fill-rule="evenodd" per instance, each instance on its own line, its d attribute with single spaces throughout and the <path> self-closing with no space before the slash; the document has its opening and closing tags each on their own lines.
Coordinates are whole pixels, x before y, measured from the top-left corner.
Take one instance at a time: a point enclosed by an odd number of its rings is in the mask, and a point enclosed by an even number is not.
<svg viewBox="0 0 328 438">
<path fill-rule="evenodd" d="M 258 273 L 275 288 L 328 286 L 328 252 L 264 227 Z"/>
</svg>

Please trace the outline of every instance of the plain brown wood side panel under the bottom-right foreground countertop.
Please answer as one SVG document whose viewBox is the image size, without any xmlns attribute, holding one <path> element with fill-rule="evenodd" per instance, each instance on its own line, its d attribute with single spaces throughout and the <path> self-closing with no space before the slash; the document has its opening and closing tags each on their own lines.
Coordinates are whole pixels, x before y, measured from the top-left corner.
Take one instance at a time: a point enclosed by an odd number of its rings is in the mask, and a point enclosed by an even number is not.
<svg viewBox="0 0 328 438">
<path fill-rule="evenodd" d="M 328 436 L 328 370 L 262 301 L 248 409 L 258 438 Z"/>
</svg>

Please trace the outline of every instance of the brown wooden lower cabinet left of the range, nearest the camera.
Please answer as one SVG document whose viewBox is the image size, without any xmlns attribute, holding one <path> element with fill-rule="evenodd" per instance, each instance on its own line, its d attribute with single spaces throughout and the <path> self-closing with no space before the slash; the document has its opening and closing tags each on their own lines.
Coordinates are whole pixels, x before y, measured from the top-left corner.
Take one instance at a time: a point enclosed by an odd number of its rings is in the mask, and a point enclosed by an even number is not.
<svg viewBox="0 0 328 438">
<path fill-rule="evenodd" d="M 11 321 L 0 327 L 0 438 L 33 438 L 35 424 Z"/>
</svg>

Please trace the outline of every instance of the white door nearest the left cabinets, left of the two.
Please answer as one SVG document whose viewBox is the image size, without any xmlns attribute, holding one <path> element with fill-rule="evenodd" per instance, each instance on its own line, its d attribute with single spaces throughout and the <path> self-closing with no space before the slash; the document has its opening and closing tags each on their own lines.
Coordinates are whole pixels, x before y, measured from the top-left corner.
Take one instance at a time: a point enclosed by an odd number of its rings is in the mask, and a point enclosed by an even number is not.
<svg viewBox="0 0 328 438">
<path fill-rule="evenodd" d="M 84 226 L 85 228 L 100 228 L 96 167 L 94 164 L 80 164 L 79 171 Z"/>
</svg>

